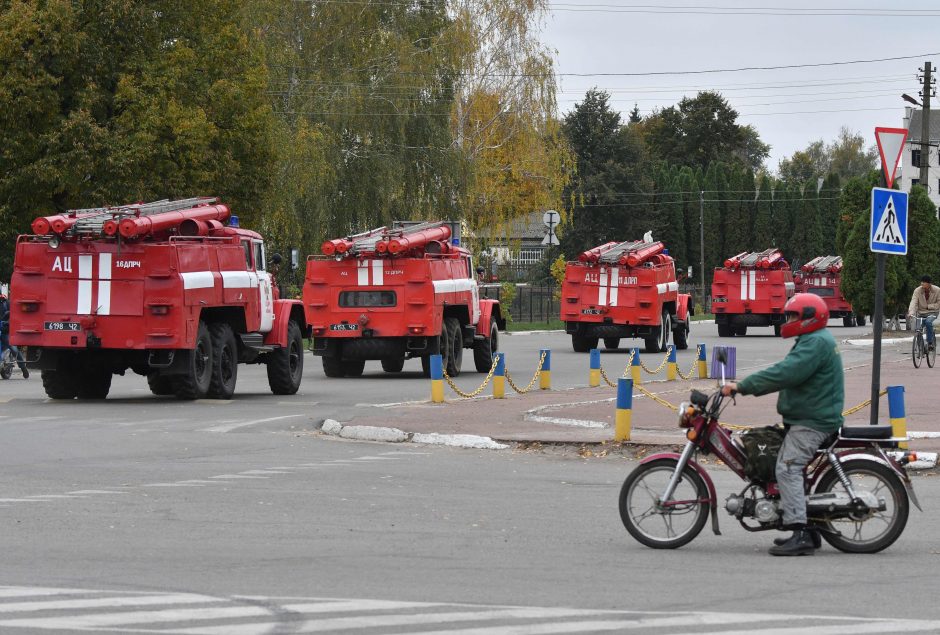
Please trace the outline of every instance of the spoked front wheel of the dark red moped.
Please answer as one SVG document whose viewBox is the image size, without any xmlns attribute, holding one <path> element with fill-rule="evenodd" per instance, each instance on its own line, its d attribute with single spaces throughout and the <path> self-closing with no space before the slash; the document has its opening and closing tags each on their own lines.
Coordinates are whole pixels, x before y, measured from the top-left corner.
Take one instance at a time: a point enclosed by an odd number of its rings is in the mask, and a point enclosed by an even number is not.
<svg viewBox="0 0 940 635">
<path fill-rule="evenodd" d="M 708 488 L 688 465 L 670 499 L 661 500 L 677 463 L 672 458 L 644 463 L 630 473 L 620 489 L 623 526 L 638 542 L 653 549 L 676 549 L 691 542 L 708 520 Z"/>
</svg>

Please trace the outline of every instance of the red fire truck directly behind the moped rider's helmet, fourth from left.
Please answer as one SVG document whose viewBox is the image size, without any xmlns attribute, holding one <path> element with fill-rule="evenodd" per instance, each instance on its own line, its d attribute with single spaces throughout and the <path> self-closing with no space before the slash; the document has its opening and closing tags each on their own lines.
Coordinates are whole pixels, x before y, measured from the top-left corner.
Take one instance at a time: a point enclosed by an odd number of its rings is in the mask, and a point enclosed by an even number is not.
<svg viewBox="0 0 940 635">
<path fill-rule="evenodd" d="M 783 305 L 795 286 L 789 263 L 778 249 L 742 252 L 715 269 L 712 313 L 719 337 L 746 335 L 749 326 L 773 326 L 780 335 Z"/>
</svg>

